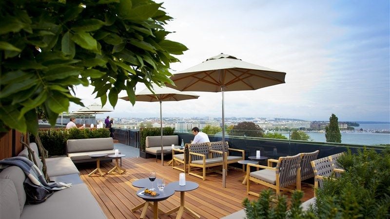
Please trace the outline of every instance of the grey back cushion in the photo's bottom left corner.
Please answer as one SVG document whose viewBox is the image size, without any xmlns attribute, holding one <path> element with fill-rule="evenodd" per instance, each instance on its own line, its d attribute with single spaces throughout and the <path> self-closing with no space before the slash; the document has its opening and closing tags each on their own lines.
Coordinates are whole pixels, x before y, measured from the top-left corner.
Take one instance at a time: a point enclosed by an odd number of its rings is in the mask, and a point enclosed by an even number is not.
<svg viewBox="0 0 390 219">
<path fill-rule="evenodd" d="M 18 194 L 15 184 L 10 179 L 0 179 L 0 218 L 20 218 Z"/>
</svg>

